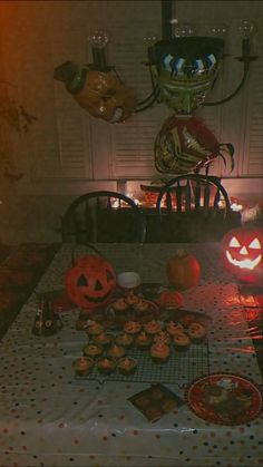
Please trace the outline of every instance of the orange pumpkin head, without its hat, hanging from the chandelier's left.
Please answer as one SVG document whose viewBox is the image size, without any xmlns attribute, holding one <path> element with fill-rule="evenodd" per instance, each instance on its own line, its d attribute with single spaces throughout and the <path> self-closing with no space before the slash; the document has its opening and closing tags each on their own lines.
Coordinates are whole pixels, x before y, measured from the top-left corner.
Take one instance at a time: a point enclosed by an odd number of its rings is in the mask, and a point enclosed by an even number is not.
<svg viewBox="0 0 263 467">
<path fill-rule="evenodd" d="M 125 121 L 137 104 L 134 91 L 111 71 L 89 70 L 82 89 L 74 98 L 94 117 L 113 124 Z"/>
</svg>

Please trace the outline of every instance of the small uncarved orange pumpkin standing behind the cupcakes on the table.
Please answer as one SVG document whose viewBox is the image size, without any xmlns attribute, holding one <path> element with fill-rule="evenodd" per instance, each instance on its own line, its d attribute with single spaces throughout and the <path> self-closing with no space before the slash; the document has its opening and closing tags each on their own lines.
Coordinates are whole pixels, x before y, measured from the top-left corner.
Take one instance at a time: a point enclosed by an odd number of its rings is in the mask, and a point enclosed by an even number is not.
<svg viewBox="0 0 263 467">
<path fill-rule="evenodd" d="M 199 262 L 185 250 L 177 250 L 176 254 L 167 261 L 166 275 L 176 290 L 189 289 L 196 285 L 201 278 Z"/>
</svg>

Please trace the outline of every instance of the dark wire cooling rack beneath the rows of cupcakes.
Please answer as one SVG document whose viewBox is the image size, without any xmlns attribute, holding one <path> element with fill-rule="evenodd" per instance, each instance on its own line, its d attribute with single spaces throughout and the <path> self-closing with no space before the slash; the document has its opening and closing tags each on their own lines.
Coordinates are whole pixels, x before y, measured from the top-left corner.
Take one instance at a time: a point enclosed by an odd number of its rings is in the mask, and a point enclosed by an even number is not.
<svg viewBox="0 0 263 467">
<path fill-rule="evenodd" d="M 176 383 L 184 388 L 194 379 L 210 372 L 208 341 L 198 344 L 192 343 L 187 350 L 183 351 L 171 348 L 171 357 L 165 363 L 155 363 L 149 351 L 137 348 L 129 349 L 127 356 L 137 360 L 137 369 L 134 374 L 119 374 L 117 370 L 110 374 L 101 374 L 95 364 L 90 374 L 76 376 L 76 378 L 96 380 L 99 383 L 105 381 Z"/>
</svg>

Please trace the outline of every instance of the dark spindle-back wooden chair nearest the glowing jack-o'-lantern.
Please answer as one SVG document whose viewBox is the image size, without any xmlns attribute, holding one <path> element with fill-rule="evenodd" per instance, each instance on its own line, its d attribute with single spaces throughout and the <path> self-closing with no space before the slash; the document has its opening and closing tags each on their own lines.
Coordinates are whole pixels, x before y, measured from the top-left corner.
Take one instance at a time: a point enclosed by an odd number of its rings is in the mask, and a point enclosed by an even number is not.
<svg viewBox="0 0 263 467">
<path fill-rule="evenodd" d="M 171 242 L 218 241 L 241 222 L 240 214 L 231 211 L 221 179 L 212 175 L 171 178 L 158 195 L 156 210 Z"/>
</svg>

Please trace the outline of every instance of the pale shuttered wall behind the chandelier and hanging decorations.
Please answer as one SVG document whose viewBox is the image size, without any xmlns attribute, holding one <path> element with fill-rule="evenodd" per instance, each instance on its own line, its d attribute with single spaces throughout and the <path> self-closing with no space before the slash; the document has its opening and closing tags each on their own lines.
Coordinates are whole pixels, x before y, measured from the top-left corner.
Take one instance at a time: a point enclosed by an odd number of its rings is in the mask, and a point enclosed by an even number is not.
<svg viewBox="0 0 263 467">
<path fill-rule="evenodd" d="M 238 6 L 237 6 L 238 3 Z M 213 172 L 222 175 L 233 194 L 255 198 L 262 193 L 262 2 L 176 0 L 174 14 L 194 21 L 199 30 L 215 19 L 231 23 L 256 22 L 250 80 L 231 103 L 204 108 L 199 115 L 221 142 L 232 142 L 236 166 L 232 174 L 217 160 Z M 153 143 L 168 115 L 163 105 L 135 114 L 127 123 L 110 125 L 82 110 L 64 85 L 53 80 L 53 69 L 66 60 L 91 61 L 87 37 L 96 27 L 109 31 L 108 62 L 136 90 L 142 100 L 150 91 L 144 36 L 160 38 L 160 1 L 1 1 L 0 79 L 10 81 L 10 93 L 38 117 L 22 137 L 12 134 L 12 157 L 23 178 L 16 185 L 1 184 L 3 204 L 1 239 L 6 242 L 59 239 L 56 228 L 68 203 L 95 188 L 117 189 L 123 179 L 150 181 L 156 176 Z M 233 32 L 232 31 L 232 32 Z M 233 90 L 242 67 L 237 36 L 230 33 L 230 57 L 212 98 Z M 228 47 L 228 46 L 227 46 Z M 245 179 L 245 183 L 243 183 Z M 237 191 L 237 192 L 236 192 Z"/>
</svg>

